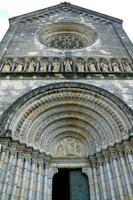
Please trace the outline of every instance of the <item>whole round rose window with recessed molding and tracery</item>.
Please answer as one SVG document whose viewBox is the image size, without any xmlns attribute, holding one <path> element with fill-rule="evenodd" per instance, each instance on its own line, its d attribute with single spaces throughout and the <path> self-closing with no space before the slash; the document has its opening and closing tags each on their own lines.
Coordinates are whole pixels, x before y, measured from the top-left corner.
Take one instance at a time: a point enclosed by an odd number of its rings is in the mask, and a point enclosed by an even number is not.
<svg viewBox="0 0 133 200">
<path fill-rule="evenodd" d="M 39 41 L 48 48 L 72 50 L 93 44 L 98 35 L 92 28 L 75 22 L 53 23 L 38 32 Z"/>
</svg>

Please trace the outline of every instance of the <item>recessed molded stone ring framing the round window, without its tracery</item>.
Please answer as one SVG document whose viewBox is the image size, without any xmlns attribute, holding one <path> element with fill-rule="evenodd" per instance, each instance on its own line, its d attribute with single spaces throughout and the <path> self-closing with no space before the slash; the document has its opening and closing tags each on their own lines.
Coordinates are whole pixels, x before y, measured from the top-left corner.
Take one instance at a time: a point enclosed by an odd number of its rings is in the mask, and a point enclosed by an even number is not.
<svg viewBox="0 0 133 200">
<path fill-rule="evenodd" d="M 54 38 L 55 36 L 71 36 L 74 35 L 77 38 L 80 38 L 83 46 L 76 48 L 60 48 L 57 46 L 49 47 L 47 41 Z M 91 27 L 86 26 L 81 23 L 75 22 L 58 22 L 53 24 L 48 24 L 43 26 L 37 33 L 38 40 L 48 49 L 58 49 L 58 50 L 81 50 L 87 48 L 94 44 L 98 39 L 98 34 Z"/>
</svg>

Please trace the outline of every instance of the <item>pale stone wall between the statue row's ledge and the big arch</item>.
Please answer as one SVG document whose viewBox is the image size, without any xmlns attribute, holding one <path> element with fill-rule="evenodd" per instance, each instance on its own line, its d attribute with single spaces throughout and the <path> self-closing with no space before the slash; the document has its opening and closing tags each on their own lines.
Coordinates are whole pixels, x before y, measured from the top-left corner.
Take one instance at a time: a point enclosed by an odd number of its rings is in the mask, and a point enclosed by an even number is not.
<svg viewBox="0 0 133 200">
<path fill-rule="evenodd" d="M 0 80 L 0 116 L 14 101 L 29 92 L 51 83 L 81 82 L 103 88 L 133 109 L 133 81 L 132 80 Z"/>
</svg>

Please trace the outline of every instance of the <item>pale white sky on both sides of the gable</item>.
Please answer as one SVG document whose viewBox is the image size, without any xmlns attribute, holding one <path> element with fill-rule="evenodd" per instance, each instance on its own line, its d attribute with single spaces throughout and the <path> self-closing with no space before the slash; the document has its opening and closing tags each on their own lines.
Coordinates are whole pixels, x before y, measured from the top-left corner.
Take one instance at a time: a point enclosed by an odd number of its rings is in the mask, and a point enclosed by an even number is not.
<svg viewBox="0 0 133 200">
<path fill-rule="evenodd" d="M 61 0 L 0 0 L 0 40 L 6 33 L 8 18 L 59 4 Z M 123 27 L 133 42 L 132 0 L 68 0 L 68 2 L 124 20 Z"/>
</svg>

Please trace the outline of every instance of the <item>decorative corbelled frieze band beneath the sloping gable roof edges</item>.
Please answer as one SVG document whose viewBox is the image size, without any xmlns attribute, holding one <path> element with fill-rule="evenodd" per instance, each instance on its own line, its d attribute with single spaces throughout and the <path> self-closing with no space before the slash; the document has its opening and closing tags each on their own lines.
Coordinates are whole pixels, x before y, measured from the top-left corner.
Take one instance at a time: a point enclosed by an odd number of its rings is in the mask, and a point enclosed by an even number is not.
<svg viewBox="0 0 133 200">
<path fill-rule="evenodd" d="M 119 24 L 122 23 L 122 20 L 114 18 L 114 17 L 110 17 L 107 15 L 103 15 L 82 7 L 78 7 L 75 5 L 72 5 L 68 2 L 63 2 L 60 3 L 59 5 L 56 6 L 52 6 L 37 12 L 33 12 L 27 14 L 27 15 L 22 15 L 19 17 L 19 23 L 21 25 L 25 25 L 25 24 L 30 24 L 30 23 L 34 23 L 34 22 L 42 22 L 44 19 L 47 19 L 51 16 L 55 16 L 56 14 L 59 14 L 62 16 L 62 14 L 68 14 L 70 12 L 74 13 L 76 16 L 81 16 L 84 19 L 89 19 L 91 21 L 95 21 L 97 23 L 101 23 L 101 24 L 105 24 L 107 26 L 111 25 L 113 22 L 117 22 Z M 13 19 L 10 19 L 10 21 L 12 21 Z"/>
</svg>

